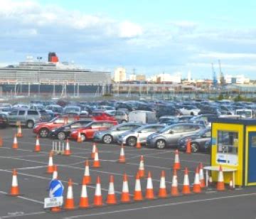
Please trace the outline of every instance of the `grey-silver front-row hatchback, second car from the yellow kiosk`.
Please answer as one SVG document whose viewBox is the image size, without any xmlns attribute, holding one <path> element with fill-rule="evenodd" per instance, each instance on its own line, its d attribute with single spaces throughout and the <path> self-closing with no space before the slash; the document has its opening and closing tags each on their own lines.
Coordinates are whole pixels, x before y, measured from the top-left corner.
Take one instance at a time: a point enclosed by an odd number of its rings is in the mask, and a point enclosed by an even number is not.
<svg viewBox="0 0 256 219">
<path fill-rule="evenodd" d="M 146 138 L 146 146 L 157 149 L 164 149 L 166 147 L 176 148 L 178 146 L 178 139 L 196 134 L 200 129 L 203 129 L 203 127 L 199 124 L 171 124 L 161 129 L 160 132 L 149 135 L 149 137 Z"/>
</svg>

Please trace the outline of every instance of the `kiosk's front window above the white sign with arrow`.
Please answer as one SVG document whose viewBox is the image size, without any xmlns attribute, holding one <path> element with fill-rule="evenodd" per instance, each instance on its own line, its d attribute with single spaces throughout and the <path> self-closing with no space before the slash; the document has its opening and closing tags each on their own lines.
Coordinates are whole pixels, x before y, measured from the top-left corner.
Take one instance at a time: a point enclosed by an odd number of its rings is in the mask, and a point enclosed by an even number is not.
<svg viewBox="0 0 256 219">
<path fill-rule="evenodd" d="M 238 154 L 238 132 L 218 131 L 218 152 Z"/>
</svg>

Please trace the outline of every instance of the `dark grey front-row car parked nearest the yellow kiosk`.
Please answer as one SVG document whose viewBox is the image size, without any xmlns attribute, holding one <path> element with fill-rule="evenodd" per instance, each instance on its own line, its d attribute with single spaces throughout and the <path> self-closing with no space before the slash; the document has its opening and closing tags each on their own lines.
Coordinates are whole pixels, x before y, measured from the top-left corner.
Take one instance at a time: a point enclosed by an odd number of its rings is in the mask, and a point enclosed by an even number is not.
<svg viewBox="0 0 256 219">
<path fill-rule="evenodd" d="M 178 150 L 186 151 L 188 139 L 191 139 L 192 152 L 205 151 L 206 141 L 210 140 L 210 137 L 211 137 L 210 127 L 203 129 L 200 132 L 193 134 L 191 136 L 181 137 L 181 139 L 178 139 Z"/>
</svg>

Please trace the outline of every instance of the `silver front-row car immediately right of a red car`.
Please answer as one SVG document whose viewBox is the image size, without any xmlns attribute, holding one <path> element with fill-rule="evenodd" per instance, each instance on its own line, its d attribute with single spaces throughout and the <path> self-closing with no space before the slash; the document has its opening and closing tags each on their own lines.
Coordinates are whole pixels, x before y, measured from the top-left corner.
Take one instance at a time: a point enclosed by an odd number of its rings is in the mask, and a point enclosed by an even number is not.
<svg viewBox="0 0 256 219">
<path fill-rule="evenodd" d="M 112 142 L 117 142 L 117 137 L 124 132 L 131 131 L 132 129 L 137 129 L 142 127 L 139 123 L 122 123 L 118 124 L 105 131 L 95 132 L 94 140 L 102 141 L 105 144 L 111 144 Z"/>
</svg>

